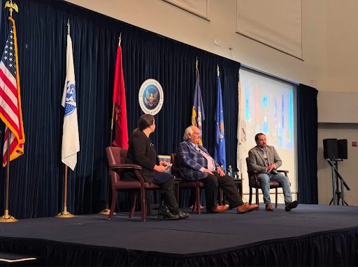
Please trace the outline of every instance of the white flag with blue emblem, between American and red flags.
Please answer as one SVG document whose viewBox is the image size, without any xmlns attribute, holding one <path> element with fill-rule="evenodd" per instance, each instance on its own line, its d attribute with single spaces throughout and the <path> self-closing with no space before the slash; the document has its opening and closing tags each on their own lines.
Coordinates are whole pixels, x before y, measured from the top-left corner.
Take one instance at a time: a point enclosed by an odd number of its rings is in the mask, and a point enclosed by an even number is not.
<svg viewBox="0 0 358 267">
<path fill-rule="evenodd" d="M 77 164 L 77 152 L 80 151 L 80 138 L 78 136 L 76 82 L 73 68 L 73 53 L 71 36 L 67 35 L 66 52 L 66 81 L 62 103 L 64 107 L 64 134 L 62 135 L 62 162 L 72 170 Z"/>
</svg>

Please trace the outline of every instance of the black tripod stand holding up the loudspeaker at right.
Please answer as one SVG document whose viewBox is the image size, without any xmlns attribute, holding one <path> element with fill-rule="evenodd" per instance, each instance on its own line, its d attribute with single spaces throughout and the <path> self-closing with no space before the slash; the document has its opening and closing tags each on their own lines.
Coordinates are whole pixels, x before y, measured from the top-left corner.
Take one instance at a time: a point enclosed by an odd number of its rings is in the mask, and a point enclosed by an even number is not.
<svg viewBox="0 0 358 267">
<path fill-rule="evenodd" d="M 344 205 L 349 206 L 348 203 L 344 200 L 344 187 L 347 190 L 350 190 L 350 188 L 348 187 L 347 183 L 345 183 L 341 174 L 339 174 L 339 172 L 338 172 L 338 161 L 343 161 L 343 159 L 341 159 L 341 160 L 335 159 L 334 161 L 335 161 L 335 163 L 333 164 L 331 162 L 331 160 L 329 158 L 327 158 L 327 162 L 329 163 L 329 165 L 331 165 L 332 193 L 333 193 L 333 197 L 332 197 L 331 201 L 329 202 L 329 205 L 331 205 L 333 202 L 334 205 L 339 206 L 339 201 L 341 200 L 342 206 L 344 206 Z M 341 191 L 339 191 L 339 189 L 338 189 L 339 188 L 338 178 L 341 179 Z M 343 185 L 344 185 L 344 187 L 343 187 Z"/>
</svg>

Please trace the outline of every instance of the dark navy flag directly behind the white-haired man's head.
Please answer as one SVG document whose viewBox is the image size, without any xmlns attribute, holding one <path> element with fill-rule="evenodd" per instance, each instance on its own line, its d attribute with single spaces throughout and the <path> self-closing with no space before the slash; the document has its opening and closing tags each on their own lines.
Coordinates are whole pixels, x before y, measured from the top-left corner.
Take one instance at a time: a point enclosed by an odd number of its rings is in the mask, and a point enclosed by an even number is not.
<svg viewBox="0 0 358 267">
<path fill-rule="evenodd" d="M 194 92 L 194 104 L 192 109 L 192 125 L 196 126 L 200 130 L 200 135 L 202 136 L 202 122 L 205 121 L 203 99 L 201 98 L 200 84 L 199 84 L 199 70 L 196 68 L 196 82 L 195 82 L 195 92 Z M 202 146 L 203 142 L 199 144 Z"/>
</svg>

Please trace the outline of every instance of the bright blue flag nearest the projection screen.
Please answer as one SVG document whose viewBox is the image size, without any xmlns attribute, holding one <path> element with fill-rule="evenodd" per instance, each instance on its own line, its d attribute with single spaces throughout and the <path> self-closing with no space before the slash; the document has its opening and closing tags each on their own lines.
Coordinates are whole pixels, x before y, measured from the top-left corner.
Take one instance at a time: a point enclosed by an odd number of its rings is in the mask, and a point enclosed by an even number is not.
<svg viewBox="0 0 358 267">
<path fill-rule="evenodd" d="M 221 83 L 219 76 L 217 76 L 214 160 L 217 162 L 218 165 L 223 166 L 224 171 L 226 171 L 227 160 L 225 155 L 224 114 L 222 112 Z"/>
</svg>

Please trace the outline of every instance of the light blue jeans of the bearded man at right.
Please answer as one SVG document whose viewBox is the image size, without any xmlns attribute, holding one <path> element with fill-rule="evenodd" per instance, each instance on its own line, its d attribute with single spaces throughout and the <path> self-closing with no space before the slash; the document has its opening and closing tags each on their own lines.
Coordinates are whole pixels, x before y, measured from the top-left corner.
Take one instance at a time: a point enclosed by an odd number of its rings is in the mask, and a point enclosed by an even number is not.
<svg viewBox="0 0 358 267">
<path fill-rule="evenodd" d="M 271 203 L 270 199 L 270 180 L 271 181 L 278 181 L 282 186 L 283 194 L 285 196 L 285 202 L 292 201 L 292 194 L 291 189 L 289 188 L 289 180 L 285 175 L 282 174 L 273 174 L 273 173 L 266 173 L 266 174 L 259 174 L 257 176 L 260 182 L 260 188 L 262 189 L 262 193 L 264 194 L 264 203 L 268 204 Z"/>
</svg>

